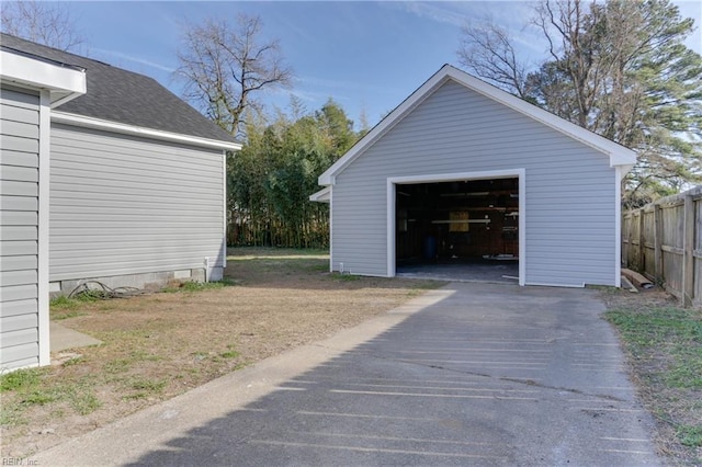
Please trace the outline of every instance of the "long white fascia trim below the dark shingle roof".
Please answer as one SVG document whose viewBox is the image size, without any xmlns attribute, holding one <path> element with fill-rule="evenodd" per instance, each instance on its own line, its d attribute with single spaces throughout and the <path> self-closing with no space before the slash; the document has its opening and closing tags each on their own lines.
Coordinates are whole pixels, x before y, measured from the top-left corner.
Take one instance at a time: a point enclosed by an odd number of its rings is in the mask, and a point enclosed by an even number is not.
<svg viewBox="0 0 702 467">
<path fill-rule="evenodd" d="M 126 125 L 123 123 L 110 122 L 101 118 L 87 117 L 83 115 L 69 114 L 65 112 L 53 112 L 52 122 L 68 125 L 81 126 L 84 128 L 103 129 L 106 132 L 121 133 L 125 135 L 143 136 L 146 138 L 160 139 L 163 141 L 184 143 L 213 149 L 226 149 L 238 151 L 241 149 L 239 143 L 227 143 L 216 139 L 201 138 L 197 136 L 180 135 L 178 133 L 162 132 L 159 129 L 145 128 L 143 126 Z"/>
</svg>

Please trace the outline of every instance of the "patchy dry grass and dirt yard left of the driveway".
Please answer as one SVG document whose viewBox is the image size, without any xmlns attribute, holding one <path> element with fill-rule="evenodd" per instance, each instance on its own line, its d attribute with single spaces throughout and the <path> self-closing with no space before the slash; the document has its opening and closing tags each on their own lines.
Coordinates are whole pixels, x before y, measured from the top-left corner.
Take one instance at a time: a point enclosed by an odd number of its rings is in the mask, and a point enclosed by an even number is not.
<svg viewBox="0 0 702 467">
<path fill-rule="evenodd" d="M 54 355 L 63 361 L 42 371 L 41 391 L 56 400 L 2 395 L 18 411 L 2 425 L 1 455 L 47 449 L 442 285 L 339 276 L 327 272 L 328 257 L 299 251 L 234 253 L 226 271 L 234 286 L 88 303 L 61 319 L 103 343 Z"/>
</svg>

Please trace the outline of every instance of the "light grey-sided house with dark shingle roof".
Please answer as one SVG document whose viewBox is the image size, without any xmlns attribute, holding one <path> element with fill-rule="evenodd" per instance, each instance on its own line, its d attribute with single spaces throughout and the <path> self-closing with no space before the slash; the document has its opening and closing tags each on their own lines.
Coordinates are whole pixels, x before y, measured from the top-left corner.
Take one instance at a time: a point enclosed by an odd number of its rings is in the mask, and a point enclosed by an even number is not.
<svg viewBox="0 0 702 467">
<path fill-rule="evenodd" d="M 49 292 L 220 278 L 240 145 L 148 77 L 0 38 L 0 367 L 15 368 L 48 364 Z"/>
</svg>

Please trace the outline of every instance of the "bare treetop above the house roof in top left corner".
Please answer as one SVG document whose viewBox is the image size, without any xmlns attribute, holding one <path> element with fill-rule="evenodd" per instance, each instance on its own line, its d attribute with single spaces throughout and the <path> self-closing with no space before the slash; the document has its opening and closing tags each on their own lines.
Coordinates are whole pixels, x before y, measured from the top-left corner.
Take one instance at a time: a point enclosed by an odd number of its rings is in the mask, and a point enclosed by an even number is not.
<svg viewBox="0 0 702 467">
<path fill-rule="evenodd" d="M 73 50 L 84 42 L 67 3 L 3 1 L 0 10 L 3 33 L 61 50 Z"/>
</svg>

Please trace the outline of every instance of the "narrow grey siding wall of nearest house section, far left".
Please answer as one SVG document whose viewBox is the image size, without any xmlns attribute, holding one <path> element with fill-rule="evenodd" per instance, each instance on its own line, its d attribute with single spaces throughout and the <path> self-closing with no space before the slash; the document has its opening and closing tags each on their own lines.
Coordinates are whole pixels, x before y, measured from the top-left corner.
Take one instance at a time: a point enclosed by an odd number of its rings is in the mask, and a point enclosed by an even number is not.
<svg viewBox="0 0 702 467">
<path fill-rule="evenodd" d="M 39 364 L 39 96 L 0 94 L 0 369 Z"/>
</svg>

